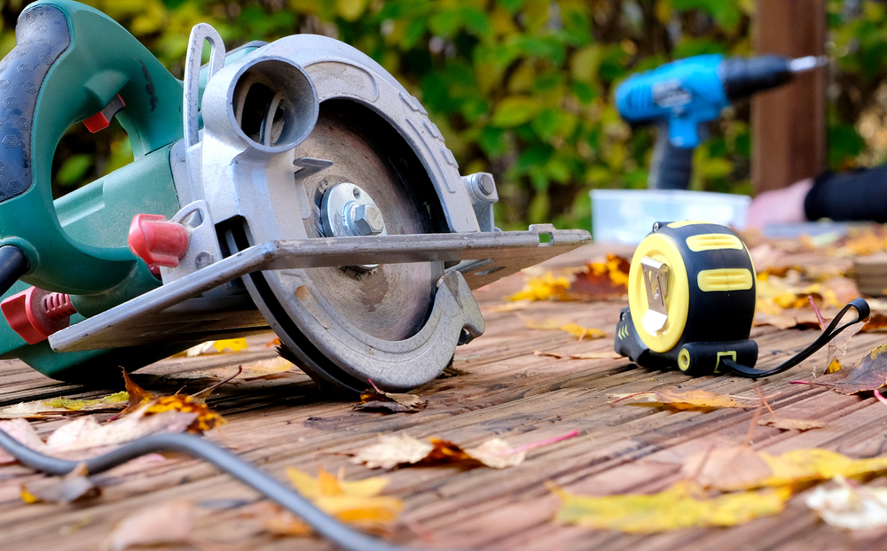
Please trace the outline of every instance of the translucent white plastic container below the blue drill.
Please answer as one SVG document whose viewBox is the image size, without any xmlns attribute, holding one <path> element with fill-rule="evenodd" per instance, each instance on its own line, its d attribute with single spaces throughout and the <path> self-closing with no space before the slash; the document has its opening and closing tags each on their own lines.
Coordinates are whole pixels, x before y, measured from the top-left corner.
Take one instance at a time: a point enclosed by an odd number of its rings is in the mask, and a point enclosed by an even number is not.
<svg viewBox="0 0 887 551">
<path fill-rule="evenodd" d="M 687 190 L 592 190 L 594 241 L 639 244 L 656 221 L 702 220 L 745 229 L 747 195 Z"/>
</svg>

